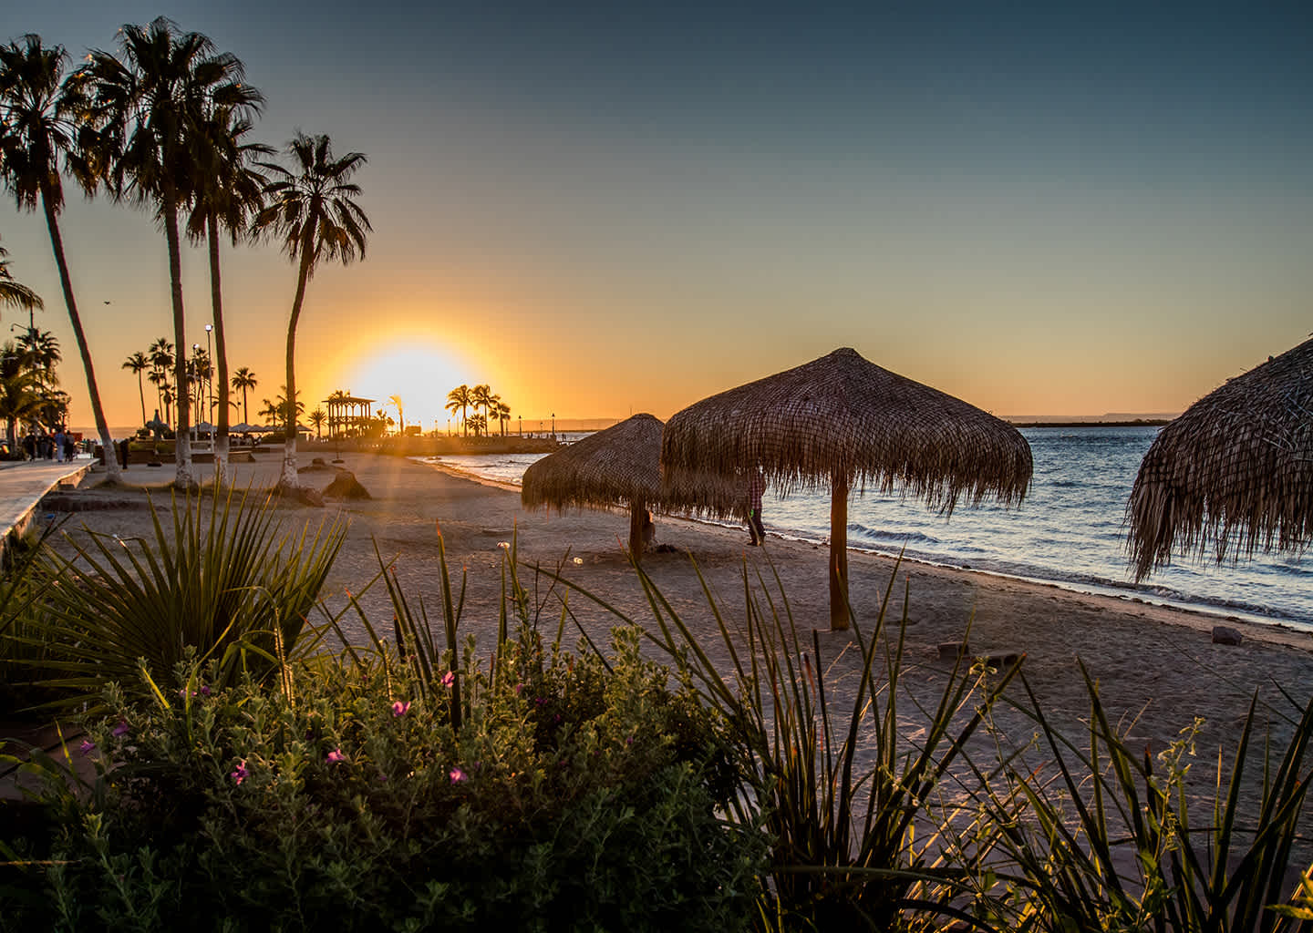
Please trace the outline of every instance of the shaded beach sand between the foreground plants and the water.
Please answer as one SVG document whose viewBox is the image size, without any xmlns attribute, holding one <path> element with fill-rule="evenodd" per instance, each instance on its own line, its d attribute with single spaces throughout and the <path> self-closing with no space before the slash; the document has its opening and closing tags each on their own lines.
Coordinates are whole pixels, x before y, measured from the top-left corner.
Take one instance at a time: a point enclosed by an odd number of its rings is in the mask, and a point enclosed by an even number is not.
<svg viewBox="0 0 1313 933">
<path fill-rule="evenodd" d="M 280 457 L 277 451 L 257 454 L 256 463 L 234 465 L 234 484 L 252 489 L 270 487 L 277 480 Z M 310 459 L 311 454 L 302 454 L 301 463 L 309 465 Z M 520 579 L 542 605 L 549 635 L 561 615 L 557 594 L 562 588 L 557 585 L 551 592 L 551 580 L 536 575 L 536 566 L 559 568 L 565 577 L 634 621 L 651 625 L 646 598 L 621 551 L 628 517 L 620 510 L 529 512 L 521 509 L 513 487 L 475 482 L 399 457 L 345 453 L 344 459 L 345 468 L 356 474 L 373 499 L 331 503 L 326 509 L 280 507 L 284 520 L 295 528 L 337 516 L 349 521 L 345 545 L 322 594 L 331 612 L 345 606 L 345 591 L 360 593 L 377 575 L 377 543 L 385 559 L 395 560 L 397 579 L 407 597 L 412 602 L 424 600 L 435 632 L 440 632 L 437 528 L 441 526 L 456 581 L 462 568 L 467 571 L 461 636 L 475 634 L 481 653 L 496 632 L 504 554 L 499 543 L 512 539 L 519 547 Z M 202 480 L 207 468 L 197 468 Z M 172 475 L 171 466 L 133 466 L 129 480 L 159 486 Z M 323 488 L 332 476 L 331 471 L 303 472 L 302 482 Z M 92 475 L 84 487 L 95 482 Z M 169 501 L 167 491 L 152 495 L 161 505 Z M 77 535 L 84 526 L 123 538 L 151 533 L 142 492 L 84 488 L 50 500 L 47 507 L 54 508 L 43 508 L 39 518 L 67 517 L 63 530 L 68 534 Z M 645 571 L 722 671 L 729 669 L 729 653 L 720 644 L 689 555 L 731 622 L 744 617 L 744 570 L 759 598 L 758 575 L 762 575 L 777 601 L 773 573 L 779 573 L 805 643 L 810 646 L 813 629 L 823 630 L 821 663 L 830 668 L 835 682 L 831 702 L 842 701 L 844 682 L 852 682 L 856 652 L 850 632 L 827 630 L 825 547 L 771 537 L 764 549 L 752 549 L 747 547 L 744 530 L 667 516 L 656 517 L 656 541 L 675 551 L 646 555 Z M 1255 692 L 1260 726 L 1271 727 L 1275 747 L 1284 748 L 1291 718 L 1299 714 L 1281 689 L 1295 701 L 1306 702 L 1313 685 L 1313 636 L 1293 629 L 916 563 L 897 566 L 895 575 L 893 559 L 859 552 L 850 555 L 848 567 L 850 598 L 859 625 L 872 625 L 890 581 L 894 585 L 889 618 L 902 618 L 906 585 L 903 685 L 919 702 L 937 699 L 952 667 L 940 659 L 939 646 L 962 640 L 969 626 L 972 653 L 1024 652 L 1023 671 L 1045 713 L 1070 735 L 1081 737 L 1088 710 L 1079 667 L 1083 661 L 1098 680 L 1109 713 L 1124 723 L 1137 749 L 1162 752 L 1196 716 L 1204 720 L 1192 769 L 1192 789 L 1199 794 L 1212 793 L 1218 749 L 1230 760 Z M 604 643 L 617 619 L 578 594 L 569 602 L 579 625 Z M 391 609 L 382 587 L 365 593 L 361 604 L 376 627 L 391 631 Z M 343 622 L 353 638 L 364 640 L 357 621 L 347 615 Z M 1239 630 L 1242 644 L 1213 644 L 1211 632 L 1218 623 Z M 567 640 L 572 644 L 575 635 Z M 909 735 L 914 735 L 915 710 L 905 703 L 901 715 Z M 997 722 L 1018 744 L 1024 744 L 1035 731 L 1028 719 L 1007 710 L 999 710 Z M 976 749 L 987 752 L 987 743 L 977 744 Z M 1260 772 L 1251 777 L 1243 812 L 1257 815 Z M 1200 821 L 1207 815 L 1200 812 Z"/>
</svg>

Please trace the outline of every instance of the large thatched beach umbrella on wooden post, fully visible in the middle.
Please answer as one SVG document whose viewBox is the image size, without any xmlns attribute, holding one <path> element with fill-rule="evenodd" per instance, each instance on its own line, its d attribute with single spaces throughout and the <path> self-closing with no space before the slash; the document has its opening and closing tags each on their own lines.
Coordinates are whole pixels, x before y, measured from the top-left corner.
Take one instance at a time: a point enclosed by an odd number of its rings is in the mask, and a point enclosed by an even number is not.
<svg viewBox="0 0 1313 933">
<path fill-rule="evenodd" d="M 1019 504 L 1032 462 L 1007 423 L 844 348 L 713 395 L 666 424 L 662 470 L 676 496 L 696 500 L 708 472 L 742 484 L 735 475 L 756 468 L 785 495 L 830 486 L 830 625 L 846 629 L 853 484 L 901 489 L 948 516 L 960 499 Z"/>
</svg>

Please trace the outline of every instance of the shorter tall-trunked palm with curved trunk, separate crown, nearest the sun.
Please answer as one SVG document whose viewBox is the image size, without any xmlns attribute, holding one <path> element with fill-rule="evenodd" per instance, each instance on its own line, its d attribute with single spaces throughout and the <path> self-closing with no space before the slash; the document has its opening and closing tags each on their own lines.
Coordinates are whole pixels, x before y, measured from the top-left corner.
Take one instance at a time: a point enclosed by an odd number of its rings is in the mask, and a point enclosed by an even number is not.
<svg viewBox="0 0 1313 933">
<path fill-rule="evenodd" d="M 288 395 L 294 399 L 297 323 L 306 299 L 306 283 L 323 257 L 340 260 L 343 265 L 357 255 L 364 259 L 370 226 L 355 201 L 360 185 L 349 181 L 365 164 L 362 152 L 335 159 L 328 136 L 298 133 L 288 144 L 288 155 L 295 172 L 277 163 L 260 163 L 273 173 L 273 180 L 264 189 L 268 203 L 256 214 L 255 230 L 281 238 L 288 259 L 298 264 L 297 293 L 288 321 Z M 289 419 L 278 486 L 295 488 L 297 484 L 297 428 L 295 420 Z"/>
</svg>

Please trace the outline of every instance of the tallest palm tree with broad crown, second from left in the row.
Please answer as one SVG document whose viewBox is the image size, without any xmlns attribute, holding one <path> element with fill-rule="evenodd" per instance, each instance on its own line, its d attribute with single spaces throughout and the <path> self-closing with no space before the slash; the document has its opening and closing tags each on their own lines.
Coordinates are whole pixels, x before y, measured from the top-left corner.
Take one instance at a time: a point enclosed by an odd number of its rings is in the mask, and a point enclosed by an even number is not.
<svg viewBox="0 0 1313 933">
<path fill-rule="evenodd" d="M 108 168 L 114 196 L 150 206 L 164 227 L 168 245 L 173 304 L 173 361 L 177 392 L 179 488 L 194 486 L 188 434 L 186 312 L 183 307 L 183 257 L 179 211 L 196 197 L 197 178 L 209 163 L 198 159 L 197 140 L 205 136 L 214 109 L 230 108 L 238 118 L 253 113 L 259 92 L 243 85 L 242 62 L 217 52 L 200 33 L 176 31 L 167 17 L 148 26 L 119 30 L 117 58 L 92 51 L 87 84 L 92 94 L 92 121 L 102 129 L 96 152 Z"/>
</svg>

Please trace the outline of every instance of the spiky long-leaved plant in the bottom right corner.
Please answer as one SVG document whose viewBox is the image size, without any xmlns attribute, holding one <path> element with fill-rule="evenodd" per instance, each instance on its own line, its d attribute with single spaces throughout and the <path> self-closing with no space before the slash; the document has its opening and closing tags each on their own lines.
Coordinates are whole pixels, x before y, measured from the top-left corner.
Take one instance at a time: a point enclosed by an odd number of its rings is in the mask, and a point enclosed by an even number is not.
<svg viewBox="0 0 1313 933">
<path fill-rule="evenodd" d="M 1217 758 L 1212 812 L 1200 820 L 1186 790 L 1195 731 L 1155 757 L 1137 753 L 1112 724 L 1098 685 L 1082 665 L 1090 698 L 1087 745 L 1060 734 L 1022 678 L 1018 709 L 1037 727 L 1052 764 L 1044 772 L 1006 769 L 1007 815 L 995 806 L 999 848 L 1015 869 L 1011 924 L 1053 930 L 1284 930 L 1313 929 L 1300 890 L 1283 890 L 1308 791 L 1304 761 L 1313 737 L 1313 701 L 1304 706 L 1284 753 L 1263 751 L 1262 797 L 1245 812 L 1241 789 L 1254 740 L 1250 705 L 1224 781 Z M 1027 803 L 1016 818 L 1018 798 Z M 1287 904 L 1288 909 L 1278 909 Z M 1305 904 L 1306 905 L 1306 904 Z"/>
</svg>

